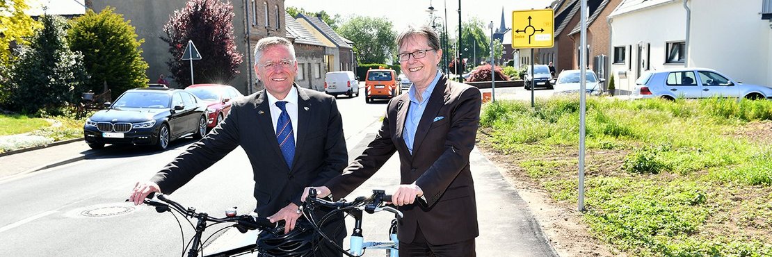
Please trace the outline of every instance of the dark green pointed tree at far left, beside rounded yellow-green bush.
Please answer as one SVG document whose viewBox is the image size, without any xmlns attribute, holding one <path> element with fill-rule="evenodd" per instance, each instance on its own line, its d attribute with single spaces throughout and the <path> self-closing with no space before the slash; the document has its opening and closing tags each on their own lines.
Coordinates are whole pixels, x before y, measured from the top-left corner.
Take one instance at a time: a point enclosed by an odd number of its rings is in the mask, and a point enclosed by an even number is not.
<svg viewBox="0 0 772 257">
<path fill-rule="evenodd" d="M 80 99 L 88 83 L 83 55 L 67 45 L 66 21 L 42 16 L 43 29 L 29 46 L 22 46 L 12 68 L 12 109 L 22 113 L 57 114 L 60 107 Z"/>
</svg>

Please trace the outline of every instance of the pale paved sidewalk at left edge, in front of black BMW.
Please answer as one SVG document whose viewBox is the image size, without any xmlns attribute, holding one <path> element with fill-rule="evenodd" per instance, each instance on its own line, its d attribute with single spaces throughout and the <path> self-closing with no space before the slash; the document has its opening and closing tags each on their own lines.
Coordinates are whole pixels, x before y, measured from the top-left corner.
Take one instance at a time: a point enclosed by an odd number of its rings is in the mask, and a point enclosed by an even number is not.
<svg viewBox="0 0 772 257">
<path fill-rule="evenodd" d="M 0 181 L 49 167 L 80 161 L 97 154 L 83 140 L 0 157 Z"/>
</svg>

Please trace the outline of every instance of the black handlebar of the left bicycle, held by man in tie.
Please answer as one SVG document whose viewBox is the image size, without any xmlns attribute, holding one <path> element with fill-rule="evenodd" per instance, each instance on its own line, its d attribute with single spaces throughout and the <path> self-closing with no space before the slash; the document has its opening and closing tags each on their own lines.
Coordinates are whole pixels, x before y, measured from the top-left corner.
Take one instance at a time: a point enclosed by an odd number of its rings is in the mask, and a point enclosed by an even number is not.
<svg viewBox="0 0 772 257">
<path fill-rule="evenodd" d="M 256 229 L 273 231 L 279 227 L 278 223 L 272 223 L 267 218 L 260 218 L 252 215 L 235 215 L 234 213 L 233 216 L 229 216 L 225 218 L 212 217 L 203 212 L 195 212 L 195 208 L 185 208 L 182 205 L 180 205 L 178 202 L 167 198 L 165 194 L 156 195 L 156 198 L 158 198 L 158 200 L 161 200 L 161 201 L 155 201 L 151 199 L 152 196 L 153 195 L 151 194 L 150 196 L 148 196 L 149 198 L 145 198 L 144 203 L 146 205 L 154 206 L 156 208 L 156 211 L 158 212 L 169 211 L 170 208 L 174 208 L 174 210 L 177 210 L 180 213 L 185 214 L 190 218 L 198 217 L 198 218 L 203 218 L 204 221 L 213 221 L 217 223 L 234 222 L 240 226 L 239 231 L 241 232 L 246 232 L 246 230 L 256 230 Z"/>
</svg>

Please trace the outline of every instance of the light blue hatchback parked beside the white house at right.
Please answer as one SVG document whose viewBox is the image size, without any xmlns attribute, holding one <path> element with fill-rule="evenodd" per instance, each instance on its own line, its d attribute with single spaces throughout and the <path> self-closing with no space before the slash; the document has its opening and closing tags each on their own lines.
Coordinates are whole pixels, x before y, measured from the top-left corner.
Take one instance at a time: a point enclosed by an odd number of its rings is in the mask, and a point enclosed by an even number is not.
<svg viewBox="0 0 772 257">
<path fill-rule="evenodd" d="M 635 80 L 631 99 L 731 97 L 772 99 L 772 88 L 745 84 L 713 69 L 680 68 L 647 71 Z"/>
</svg>

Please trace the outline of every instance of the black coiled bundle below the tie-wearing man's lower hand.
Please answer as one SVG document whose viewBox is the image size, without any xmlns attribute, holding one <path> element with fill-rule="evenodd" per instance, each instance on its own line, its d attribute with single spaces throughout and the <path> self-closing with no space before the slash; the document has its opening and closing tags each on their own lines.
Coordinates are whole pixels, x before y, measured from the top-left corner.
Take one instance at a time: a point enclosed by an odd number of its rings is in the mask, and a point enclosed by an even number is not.
<svg viewBox="0 0 772 257">
<path fill-rule="evenodd" d="M 309 221 L 299 219 L 295 228 L 284 234 L 284 224 L 274 231 L 260 232 L 257 238 L 259 252 L 268 256 L 310 256 L 320 244 L 320 235 L 314 232 Z"/>
</svg>

